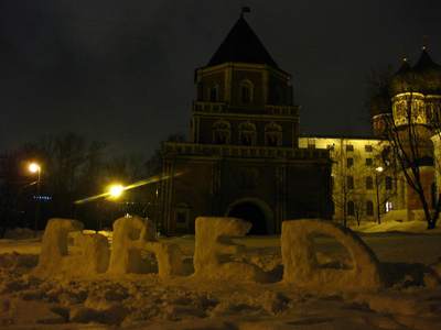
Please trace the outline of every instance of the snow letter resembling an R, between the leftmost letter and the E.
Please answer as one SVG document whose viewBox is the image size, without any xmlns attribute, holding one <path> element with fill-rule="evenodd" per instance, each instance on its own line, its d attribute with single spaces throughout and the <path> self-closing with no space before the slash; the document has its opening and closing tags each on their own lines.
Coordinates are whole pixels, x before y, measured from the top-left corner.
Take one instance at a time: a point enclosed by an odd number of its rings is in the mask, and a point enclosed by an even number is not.
<svg viewBox="0 0 441 330">
<path fill-rule="evenodd" d="M 149 266 L 141 256 L 142 251 L 155 254 L 161 277 L 181 274 L 183 262 L 178 245 L 158 242 L 153 222 L 139 217 L 125 217 L 114 222 L 108 273 L 149 273 Z"/>
</svg>

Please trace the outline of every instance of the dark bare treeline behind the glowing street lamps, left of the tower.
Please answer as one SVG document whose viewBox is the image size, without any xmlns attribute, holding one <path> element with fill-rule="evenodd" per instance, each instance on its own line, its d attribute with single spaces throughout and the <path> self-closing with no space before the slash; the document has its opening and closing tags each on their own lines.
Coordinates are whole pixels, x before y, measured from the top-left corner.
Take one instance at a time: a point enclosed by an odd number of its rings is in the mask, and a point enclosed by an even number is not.
<svg viewBox="0 0 441 330">
<path fill-rule="evenodd" d="M 28 170 L 31 161 L 41 165 L 39 183 L 36 174 Z M 160 148 L 150 160 L 133 154 L 112 156 L 106 143 L 87 141 L 75 133 L 44 136 L 3 152 L 0 235 L 8 228 L 33 229 L 35 219 L 39 229 L 43 229 L 53 217 L 76 218 L 89 229 L 110 228 L 126 212 L 151 217 L 158 205 L 155 184 L 127 190 L 118 200 L 100 198 L 80 205 L 74 201 L 103 194 L 112 183 L 128 185 L 160 170 Z"/>
</svg>

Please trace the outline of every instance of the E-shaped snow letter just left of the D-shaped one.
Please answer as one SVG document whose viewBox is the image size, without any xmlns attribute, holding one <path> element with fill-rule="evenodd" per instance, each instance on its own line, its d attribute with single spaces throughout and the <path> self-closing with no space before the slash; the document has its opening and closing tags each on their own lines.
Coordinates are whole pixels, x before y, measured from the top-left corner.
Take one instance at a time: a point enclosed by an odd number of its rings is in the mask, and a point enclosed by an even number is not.
<svg viewBox="0 0 441 330">
<path fill-rule="evenodd" d="M 236 218 L 196 219 L 194 275 L 204 278 L 265 282 L 263 271 L 252 264 L 229 261 L 244 250 L 230 237 L 244 237 L 251 223 Z"/>
</svg>

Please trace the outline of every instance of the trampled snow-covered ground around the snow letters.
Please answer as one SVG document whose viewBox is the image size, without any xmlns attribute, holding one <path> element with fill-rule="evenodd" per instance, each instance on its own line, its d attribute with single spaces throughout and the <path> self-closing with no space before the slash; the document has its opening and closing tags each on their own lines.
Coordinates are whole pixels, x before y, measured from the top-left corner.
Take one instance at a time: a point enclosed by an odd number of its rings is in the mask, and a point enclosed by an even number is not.
<svg viewBox="0 0 441 330">
<path fill-rule="evenodd" d="M 387 289 L 312 294 L 270 284 L 160 279 L 155 274 L 37 279 L 37 239 L 0 240 L 0 327 L 8 329 L 440 329 L 441 287 L 432 275 L 441 232 L 423 223 L 365 226 L 362 239 L 390 275 Z M 178 243 L 191 261 L 194 237 Z M 237 239 L 241 255 L 281 279 L 280 237 Z M 333 239 L 315 239 L 319 260 L 345 260 Z M 439 275 L 441 268 L 438 265 Z M 424 275 L 426 274 L 426 275 Z"/>
</svg>

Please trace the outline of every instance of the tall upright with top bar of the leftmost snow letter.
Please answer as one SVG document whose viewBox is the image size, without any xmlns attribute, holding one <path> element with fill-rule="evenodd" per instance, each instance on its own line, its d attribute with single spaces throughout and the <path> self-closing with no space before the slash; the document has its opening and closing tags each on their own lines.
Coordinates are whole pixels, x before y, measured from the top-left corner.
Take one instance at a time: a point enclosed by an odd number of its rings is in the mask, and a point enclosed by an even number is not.
<svg viewBox="0 0 441 330">
<path fill-rule="evenodd" d="M 44 230 L 39 264 L 34 270 L 34 275 L 39 277 L 63 273 L 68 266 L 65 262 L 67 257 L 67 235 L 69 232 L 79 231 L 83 223 L 71 219 L 51 219 Z"/>
</svg>

